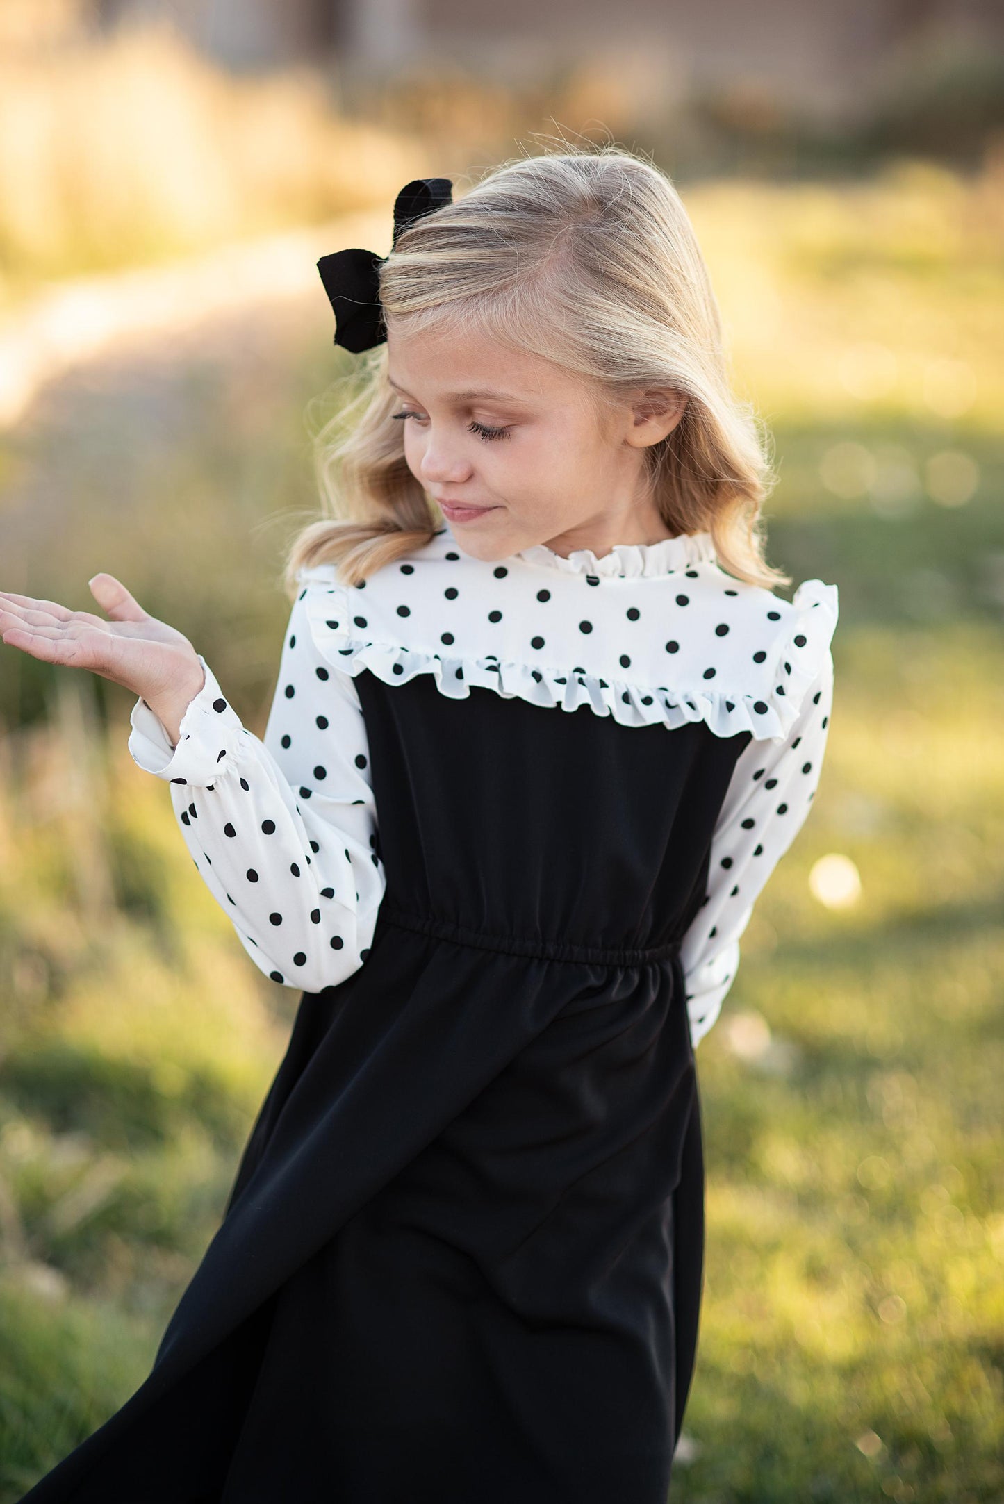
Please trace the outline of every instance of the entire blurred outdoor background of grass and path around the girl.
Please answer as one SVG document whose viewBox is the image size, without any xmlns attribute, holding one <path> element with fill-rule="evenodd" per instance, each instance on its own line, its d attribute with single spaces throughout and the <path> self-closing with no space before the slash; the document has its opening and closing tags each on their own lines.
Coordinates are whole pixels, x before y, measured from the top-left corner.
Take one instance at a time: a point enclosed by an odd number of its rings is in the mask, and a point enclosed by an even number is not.
<svg viewBox="0 0 1004 1504">
<path fill-rule="evenodd" d="M 554 135 L 652 153 L 837 582 L 813 818 L 698 1060 L 680 1504 L 1004 1498 L 1004 12 L 0 0 L 0 588 L 120 576 L 260 734 L 351 356 L 315 262 Z M 298 994 L 126 750 L 0 647 L 0 1501 L 149 1372 Z"/>
</svg>

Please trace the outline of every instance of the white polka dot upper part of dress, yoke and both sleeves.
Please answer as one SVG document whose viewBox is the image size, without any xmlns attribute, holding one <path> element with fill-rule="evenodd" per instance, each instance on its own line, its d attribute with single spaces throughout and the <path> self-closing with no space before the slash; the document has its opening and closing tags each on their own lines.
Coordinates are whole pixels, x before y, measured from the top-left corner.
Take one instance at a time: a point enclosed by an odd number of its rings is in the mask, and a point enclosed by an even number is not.
<svg viewBox="0 0 1004 1504">
<path fill-rule="evenodd" d="M 462 587 L 462 588 L 461 588 Z M 263 738 L 206 681 L 172 746 L 137 699 L 129 752 L 170 785 L 182 836 L 254 964 L 321 991 L 369 952 L 385 877 L 354 677 L 432 674 L 626 726 L 750 731 L 715 826 L 707 896 L 682 945 L 694 1045 L 715 1023 L 753 905 L 805 820 L 832 705 L 837 587 L 792 602 L 718 564 L 709 532 L 567 556 L 464 553 L 449 525 L 363 590 L 301 570 Z M 324 683 L 324 713 L 318 686 Z"/>
</svg>

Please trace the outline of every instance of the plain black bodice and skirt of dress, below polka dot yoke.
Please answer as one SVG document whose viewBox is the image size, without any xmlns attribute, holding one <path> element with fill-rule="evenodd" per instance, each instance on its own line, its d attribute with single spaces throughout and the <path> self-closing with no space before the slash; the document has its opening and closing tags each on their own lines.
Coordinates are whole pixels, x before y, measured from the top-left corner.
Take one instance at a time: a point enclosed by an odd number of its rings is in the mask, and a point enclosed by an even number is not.
<svg viewBox="0 0 1004 1504">
<path fill-rule="evenodd" d="M 665 1504 L 703 1266 L 679 946 L 751 732 L 355 684 L 372 948 L 303 994 L 151 1375 L 24 1504 Z"/>
</svg>

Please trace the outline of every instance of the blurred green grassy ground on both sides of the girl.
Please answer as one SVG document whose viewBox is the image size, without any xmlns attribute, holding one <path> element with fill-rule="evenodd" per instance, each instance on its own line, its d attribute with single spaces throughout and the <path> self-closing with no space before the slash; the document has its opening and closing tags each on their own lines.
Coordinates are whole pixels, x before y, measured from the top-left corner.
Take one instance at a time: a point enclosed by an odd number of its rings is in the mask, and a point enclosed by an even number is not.
<svg viewBox="0 0 1004 1504">
<path fill-rule="evenodd" d="M 835 581 L 841 621 L 816 808 L 698 1050 L 679 1504 L 1004 1498 L 995 185 L 902 164 L 688 193 L 775 436 L 771 558 Z M 334 371 L 318 302 L 68 379 L 0 444 L 0 584 L 83 608 L 119 573 L 260 732 Z M 132 766 L 129 704 L 0 651 L 3 1504 L 148 1372 L 295 1003 Z M 843 905 L 814 896 L 834 856 Z"/>
</svg>

